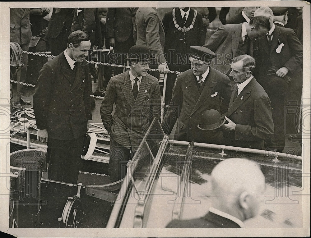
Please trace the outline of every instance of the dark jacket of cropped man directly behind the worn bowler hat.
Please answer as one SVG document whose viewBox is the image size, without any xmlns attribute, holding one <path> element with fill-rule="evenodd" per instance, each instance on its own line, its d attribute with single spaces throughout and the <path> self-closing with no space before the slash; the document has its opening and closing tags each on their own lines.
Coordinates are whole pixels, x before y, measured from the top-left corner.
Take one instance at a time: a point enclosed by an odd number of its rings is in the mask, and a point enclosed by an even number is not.
<svg viewBox="0 0 311 238">
<path fill-rule="evenodd" d="M 126 41 L 134 31 L 138 7 L 109 7 L 107 13 L 107 38 Z"/>
</svg>

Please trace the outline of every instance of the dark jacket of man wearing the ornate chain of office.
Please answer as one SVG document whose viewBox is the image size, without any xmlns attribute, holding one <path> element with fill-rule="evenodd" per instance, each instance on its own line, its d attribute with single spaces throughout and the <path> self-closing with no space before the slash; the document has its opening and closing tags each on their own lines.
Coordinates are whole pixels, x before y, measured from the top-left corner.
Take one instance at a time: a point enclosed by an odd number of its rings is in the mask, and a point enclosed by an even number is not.
<svg viewBox="0 0 311 238">
<path fill-rule="evenodd" d="M 189 27 L 193 20 L 194 10 L 190 8 L 189 16 L 186 21 L 186 24 L 183 24 L 183 19 L 180 14 L 180 9 L 176 8 L 175 16 L 176 21 L 179 26 Z M 165 32 L 165 53 L 168 53 L 168 50 L 174 50 L 176 45 L 179 43 L 179 39 L 183 39 L 183 32 L 178 30 L 175 27 L 173 22 L 172 11 L 165 13 L 163 18 L 164 32 Z M 202 15 L 197 13 L 197 18 L 194 22 L 193 29 L 185 32 L 186 47 L 185 52 L 190 53 L 190 46 L 202 46 L 205 43 L 205 39 L 202 37 L 203 25 L 202 25 Z"/>
</svg>

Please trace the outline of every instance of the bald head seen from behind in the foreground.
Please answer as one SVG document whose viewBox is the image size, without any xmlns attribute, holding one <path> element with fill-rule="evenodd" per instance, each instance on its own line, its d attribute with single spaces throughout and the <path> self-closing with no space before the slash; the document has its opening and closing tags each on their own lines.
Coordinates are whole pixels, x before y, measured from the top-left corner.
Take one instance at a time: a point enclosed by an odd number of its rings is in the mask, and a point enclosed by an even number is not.
<svg viewBox="0 0 311 238">
<path fill-rule="evenodd" d="M 225 159 L 211 172 L 213 207 L 244 221 L 259 212 L 265 177 L 257 163 Z"/>
</svg>

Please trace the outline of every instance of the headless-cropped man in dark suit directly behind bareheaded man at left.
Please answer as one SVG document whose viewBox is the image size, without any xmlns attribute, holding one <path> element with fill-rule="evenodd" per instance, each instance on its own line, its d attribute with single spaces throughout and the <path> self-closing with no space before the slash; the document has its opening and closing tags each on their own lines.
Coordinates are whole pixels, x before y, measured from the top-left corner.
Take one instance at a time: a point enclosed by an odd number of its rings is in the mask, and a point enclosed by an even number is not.
<svg viewBox="0 0 311 238">
<path fill-rule="evenodd" d="M 67 48 L 74 8 L 53 7 L 45 37 L 52 55 L 59 55 Z"/>
</svg>

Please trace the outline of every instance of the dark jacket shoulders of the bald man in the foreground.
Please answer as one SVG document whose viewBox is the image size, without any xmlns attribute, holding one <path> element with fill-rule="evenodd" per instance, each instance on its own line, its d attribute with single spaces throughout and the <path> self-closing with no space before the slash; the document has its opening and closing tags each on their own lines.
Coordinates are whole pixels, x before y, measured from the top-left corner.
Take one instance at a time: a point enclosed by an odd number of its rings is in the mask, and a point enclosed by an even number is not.
<svg viewBox="0 0 311 238">
<path fill-rule="evenodd" d="M 191 220 L 173 220 L 166 228 L 241 228 L 237 223 L 215 213 Z"/>
</svg>

